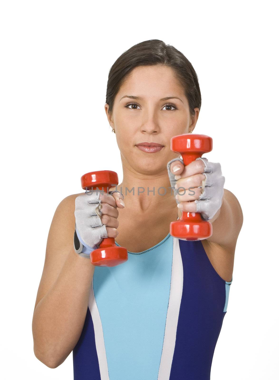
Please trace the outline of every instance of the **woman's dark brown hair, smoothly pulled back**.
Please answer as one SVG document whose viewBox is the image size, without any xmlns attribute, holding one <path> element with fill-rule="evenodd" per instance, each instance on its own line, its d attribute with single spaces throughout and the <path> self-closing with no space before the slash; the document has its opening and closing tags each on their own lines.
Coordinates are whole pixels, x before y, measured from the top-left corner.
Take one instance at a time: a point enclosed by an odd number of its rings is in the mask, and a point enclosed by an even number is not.
<svg viewBox="0 0 279 380">
<path fill-rule="evenodd" d="M 194 108 L 201 108 L 201 92 L 198 76 L 192 64 L 179 50 L 166 45 L 160 40 L 140 42 L 124 51 L 109 70 L 106 87 L 108 112 L 113 112 L 114 99 L 128 74 L 137 66 L 166 65 L 174 70 L 176 78 L 184 88 L 190 114 L 195 115 Z"/>
</svg>

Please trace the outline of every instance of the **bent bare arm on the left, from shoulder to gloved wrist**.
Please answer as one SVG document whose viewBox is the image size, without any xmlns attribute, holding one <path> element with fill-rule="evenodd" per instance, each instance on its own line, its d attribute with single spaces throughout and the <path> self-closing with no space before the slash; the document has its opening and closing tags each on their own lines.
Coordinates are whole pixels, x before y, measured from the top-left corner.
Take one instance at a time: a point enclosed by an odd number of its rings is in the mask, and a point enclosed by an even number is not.
<svg viewBox="0 0 279 380">
<path fill-rule="evenodd" d="M 33 314 L 34 353 L 50 368 L 63 363 L 79 339 L 95 269 L 73 249 L 78 195 L 63 199 L 55 211 Z"/>
</svg>

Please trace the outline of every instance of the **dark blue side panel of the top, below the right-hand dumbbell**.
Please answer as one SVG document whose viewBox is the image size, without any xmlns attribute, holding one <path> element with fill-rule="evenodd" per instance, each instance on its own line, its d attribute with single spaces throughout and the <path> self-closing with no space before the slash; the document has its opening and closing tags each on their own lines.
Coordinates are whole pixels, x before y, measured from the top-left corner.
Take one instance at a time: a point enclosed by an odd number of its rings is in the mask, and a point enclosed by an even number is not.
<svg viewBox="0 0 279 380">
<path fill-rule="evenodd" d="M 183 290 L 170 380 L 209 380 L 222 327 L 225 280 L 213 268 L 201 241 L 179 240 Z"/>
</svg>

